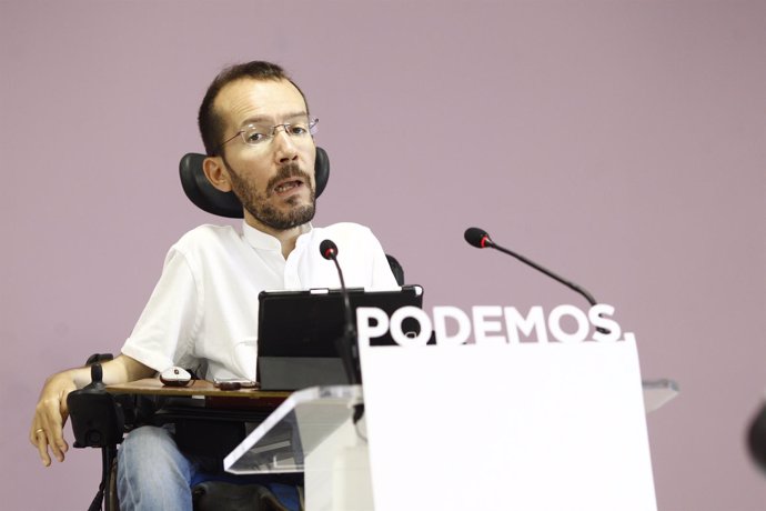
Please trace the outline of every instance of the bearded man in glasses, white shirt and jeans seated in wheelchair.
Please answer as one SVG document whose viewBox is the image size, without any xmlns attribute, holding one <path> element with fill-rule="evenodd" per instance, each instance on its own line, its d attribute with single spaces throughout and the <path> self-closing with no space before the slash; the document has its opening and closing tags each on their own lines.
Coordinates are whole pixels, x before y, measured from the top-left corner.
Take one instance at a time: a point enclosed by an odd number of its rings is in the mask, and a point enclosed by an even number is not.
<svg viewBox="0 0 766 511">
<path fill-rule="evenodd" d="M 255 380 L 258 294 L 339 287 L 334 265 L 319 251 L 324 239 L 339 246 L 347 285 L 396 288 L 369 229 L 309 223 L 315 209 L 316 122 L 303 92 L 275 64 L 249 62 L 215 78 L 199 116 L 208 152 L 203 168 L 216 189 L 233 191 L 242 202 L 242 232 L 202 226 L 170 249 L 122 353 L 103 364 L 107 384 L 149 378 L 173 365 L 195 369 L 208 380 Z M 67 395 L 89 382 L 87 368 L 46 381 L 30 428 L 44 465 L 51 452 L 64 460 Z M 137 429 L 120 449 L 121 508 L 191 509 L 189 485 L 198 469 L 167 429 Z"/>
</svg>

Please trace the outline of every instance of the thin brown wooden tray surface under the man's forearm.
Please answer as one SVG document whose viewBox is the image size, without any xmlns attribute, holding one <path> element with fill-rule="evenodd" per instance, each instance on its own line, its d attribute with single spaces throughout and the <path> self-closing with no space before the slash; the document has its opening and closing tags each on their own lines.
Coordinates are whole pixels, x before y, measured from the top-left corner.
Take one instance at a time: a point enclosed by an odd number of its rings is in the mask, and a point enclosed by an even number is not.
<svg viewBox="0 0 766 511">
<path fill-rule="evenodd" d="M 213 385 L 212 381 L 192 380 L 187 387 L 167 387 L 158 378 L 147 378 L 144 380 L 131 381 L 108 385 L 107 392 L 112 394 L 148 394 L 168 397 L 204 397 L 204 398 L 238 398 L 238 399 L 262 399 L 268 401 L 284 400 L 291 392 L 282 391 L 260 391 L 258 389 L 221 390 Z"/>
</svg>

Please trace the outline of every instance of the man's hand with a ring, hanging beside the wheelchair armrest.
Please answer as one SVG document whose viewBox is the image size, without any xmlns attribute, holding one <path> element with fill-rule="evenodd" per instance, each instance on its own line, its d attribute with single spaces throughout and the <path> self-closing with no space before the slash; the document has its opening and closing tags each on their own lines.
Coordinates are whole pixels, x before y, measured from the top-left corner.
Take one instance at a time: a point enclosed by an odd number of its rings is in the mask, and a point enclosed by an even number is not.
<svg viewBox="0 0 766 511">
<path fill-rule="evenodd" d="M 42 464 L 49 467 L 51 457 L 48 448 L 60 462 L 69 444 L 63 438 L 63 425 L 69 417 L 67 395 L 77 390 L 71 371 L 53 374 L 46 381 L 40 392 L 40 399 L 34 409 L 32 427 L 29 430 L 29 441 L 38 448 Z"/>
</svg>

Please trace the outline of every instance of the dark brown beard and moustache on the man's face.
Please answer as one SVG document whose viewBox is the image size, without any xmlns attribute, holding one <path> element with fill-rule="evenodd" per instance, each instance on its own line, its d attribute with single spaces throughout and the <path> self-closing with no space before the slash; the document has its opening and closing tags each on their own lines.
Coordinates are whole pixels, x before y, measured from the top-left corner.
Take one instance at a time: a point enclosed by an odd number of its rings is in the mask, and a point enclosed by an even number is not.
<svg viewBox="0 0 766 511">
<path fill-rule="evenodd" d="M 259 222 L 272 229 L 284 231 L 294 227 L 310 222 L 316 211 L 316 192 L 311 183 L 311 177 L 302 171 L 295 163 L 286 163 L 279 168 L 276 176 L 266 183 L 265 193 L 255 190 L 255 184 L 241 178 L 229 167 L 224 160 L 229 176 L 231 177 L 231 188 L 236 198 L 242 202 L 242 207 L 253 216 Z M 279 181 L 290 178 L 301 178 L 303 184 L 309 187 L 309 203 L 299 204 L 301 200 L 293 196 L 286 200 L 291 206 L 288 211 L 280 211 L 269 203 L 269 199 L 274 196 L 274 187 Z"/>
</svg>

